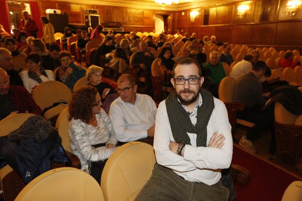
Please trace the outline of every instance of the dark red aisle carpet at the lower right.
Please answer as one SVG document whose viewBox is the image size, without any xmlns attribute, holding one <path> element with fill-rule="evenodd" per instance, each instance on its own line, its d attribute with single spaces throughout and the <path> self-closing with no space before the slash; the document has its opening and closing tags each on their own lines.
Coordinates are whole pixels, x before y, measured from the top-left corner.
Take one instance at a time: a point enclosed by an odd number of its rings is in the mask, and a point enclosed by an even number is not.
<svg viewBox="0 0 302 201">
<path fill-rule="evenodd" d="M 234 146 L 233 164 L 251 172 L 248 186 L 236 186 L 237 201 L 281 201 L 287 186 L 299 178 Z"/>
</svg>

